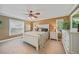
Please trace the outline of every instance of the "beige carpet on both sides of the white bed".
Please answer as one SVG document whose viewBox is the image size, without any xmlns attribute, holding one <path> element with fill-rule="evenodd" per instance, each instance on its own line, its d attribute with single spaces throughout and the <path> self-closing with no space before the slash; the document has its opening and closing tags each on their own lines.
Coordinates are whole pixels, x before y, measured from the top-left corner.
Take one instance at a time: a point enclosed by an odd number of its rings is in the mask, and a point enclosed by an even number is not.
<svg viewBox="0 0 79 59">
<path fill-rule="evenodd" d="M 63 54 L 65 52 L 60 41 L 48 40 L 45 47 L 39 50 L 39 53 Z M 0 54 L 37 54 L 37 51 L 31 45 L 18 39 L 0 43 Z"/>
</svg>

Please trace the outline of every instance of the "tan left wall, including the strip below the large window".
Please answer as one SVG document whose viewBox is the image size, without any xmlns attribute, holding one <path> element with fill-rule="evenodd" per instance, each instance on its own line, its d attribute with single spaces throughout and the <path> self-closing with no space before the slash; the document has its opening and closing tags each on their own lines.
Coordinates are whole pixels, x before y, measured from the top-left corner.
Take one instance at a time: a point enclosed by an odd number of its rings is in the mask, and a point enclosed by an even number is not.
<svg viewBox="0 0 79 59">
<path fill-rule="evenodd" d="M 2 21 L 2 25 L 0 24 L 0 40 L 22 35 L 22 34 L 18 34 L 18 35 L 9 36 L 9 18 L 10 17 L 0 15 L 0 21 Z"/>
</svg>

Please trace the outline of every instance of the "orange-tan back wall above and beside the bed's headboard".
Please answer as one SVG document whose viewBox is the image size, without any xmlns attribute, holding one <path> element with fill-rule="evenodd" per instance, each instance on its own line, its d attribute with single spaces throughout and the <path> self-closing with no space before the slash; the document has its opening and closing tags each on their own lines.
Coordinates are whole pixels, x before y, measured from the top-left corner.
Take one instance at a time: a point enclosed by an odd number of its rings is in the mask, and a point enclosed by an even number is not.
<svg viewBox="0 0 79 59">
<path fill-rule="evenodd" d="M 49 24 L 49 30 L 52 32 L 56 31 L 56 19 L 63 19 L 65 22 L 69 22 L 69 16 L 61 16 L 57 18 L 44 19 L 40 21 L 35 21 L 33 24 Z"/>
</svg>

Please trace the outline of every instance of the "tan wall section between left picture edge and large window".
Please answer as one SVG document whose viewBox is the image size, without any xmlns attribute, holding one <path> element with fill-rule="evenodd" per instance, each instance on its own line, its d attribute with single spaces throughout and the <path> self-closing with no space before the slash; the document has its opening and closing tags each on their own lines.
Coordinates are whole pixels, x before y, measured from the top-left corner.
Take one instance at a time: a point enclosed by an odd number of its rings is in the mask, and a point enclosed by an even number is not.
<svg viewBox="0 0 79 59">
<path fill-rule="evenodd" d="M 2 24 L 0 24 L 0 39 L 4 39 L 8 37 L 9 31 L 8 31 L 8 17 L 6 16 L 0 16 L 0 21 L 2 21 Z"/>
</svg>

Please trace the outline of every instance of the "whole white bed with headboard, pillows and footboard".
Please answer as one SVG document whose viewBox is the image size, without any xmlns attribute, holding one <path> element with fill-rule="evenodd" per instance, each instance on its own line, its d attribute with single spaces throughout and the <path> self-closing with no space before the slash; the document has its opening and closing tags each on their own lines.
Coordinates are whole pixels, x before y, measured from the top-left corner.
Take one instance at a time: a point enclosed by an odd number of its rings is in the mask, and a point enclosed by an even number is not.
<svg viewBox="0 0 79 59">
<path fill-rule="evenodd" d="M 23 41 L 34 46 L 36 50 L 43 48 L 46 40 L 49 37 L 49 24 L 42 24 L 37 26 L 35 30 L 25 32 Z"/>
</svg>

